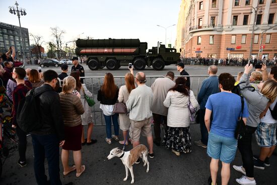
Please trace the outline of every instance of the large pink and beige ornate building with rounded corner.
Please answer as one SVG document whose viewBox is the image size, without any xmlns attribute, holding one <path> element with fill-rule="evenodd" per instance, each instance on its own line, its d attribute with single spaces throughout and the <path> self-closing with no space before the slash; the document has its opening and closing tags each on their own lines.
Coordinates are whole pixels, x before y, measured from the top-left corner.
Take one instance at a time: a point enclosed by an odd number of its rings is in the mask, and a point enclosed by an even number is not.
<svg viewBox="0 0 277 185">
<path fill-rule="evenodd" d="M 253 25 L 251 58 L 259 52 L 259 58 L 277 56 L 276 0 L 183 0 L 182 5 L 176 40 L 182 56 L 247 59 Z M 251 7 L 260 8 L 255 13 Z"/>
</svg>

